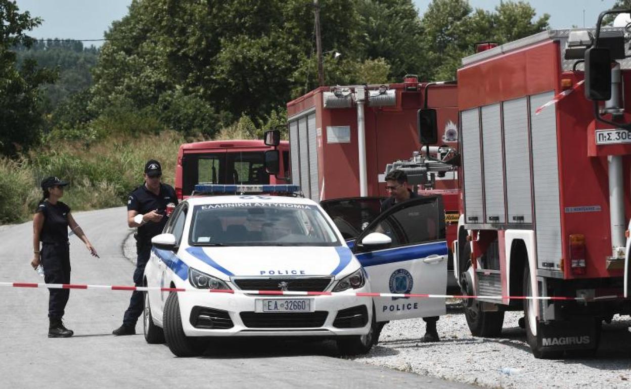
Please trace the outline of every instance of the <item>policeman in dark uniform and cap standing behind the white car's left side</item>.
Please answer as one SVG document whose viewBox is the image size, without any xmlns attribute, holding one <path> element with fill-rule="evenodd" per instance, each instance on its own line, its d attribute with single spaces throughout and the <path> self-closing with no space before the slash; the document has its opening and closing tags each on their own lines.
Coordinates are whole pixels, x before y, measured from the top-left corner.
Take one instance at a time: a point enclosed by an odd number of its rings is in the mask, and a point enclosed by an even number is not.
<svg viewBox="0 0 631 389">
<path fill-rule="evenodd" d="M 138 227 L 136 233 L 136 270 L 134 283 L 143 286 L 144 266 L 151 255 L 151 238 L 162 233 L 167 224 L 165 215 L 167 204 L 177 205 L 175 190 L 171 185 L 160 182 L 162 166 L 156 160 L 144 164 L 144 184 L 134 189 L 127 201 L 127 225 Z M 143 293 L 134 291 L 131 294 L 129 308 L 125 311 L 122 325 L 112 331 L 114 335 L 136 334 L 136 322 L 143 313 Z"/>
</svg>

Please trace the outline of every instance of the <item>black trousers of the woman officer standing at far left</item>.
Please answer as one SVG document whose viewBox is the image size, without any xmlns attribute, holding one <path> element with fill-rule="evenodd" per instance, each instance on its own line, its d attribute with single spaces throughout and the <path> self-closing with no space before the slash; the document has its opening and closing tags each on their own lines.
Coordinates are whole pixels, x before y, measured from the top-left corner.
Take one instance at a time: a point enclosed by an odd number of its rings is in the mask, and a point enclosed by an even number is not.
<svg viewBox="0 0 631 389">
<path fill-rule="evenodd" d="M 42 267 L 44 281 L 47 284 L 70 283 L 70 250 L 69 243 L 42 243 Z M 48 316 L 59 320 L 64 316 L 64 309 L 70 297 L 70 289 L 48 289 Z"/>
</svg>

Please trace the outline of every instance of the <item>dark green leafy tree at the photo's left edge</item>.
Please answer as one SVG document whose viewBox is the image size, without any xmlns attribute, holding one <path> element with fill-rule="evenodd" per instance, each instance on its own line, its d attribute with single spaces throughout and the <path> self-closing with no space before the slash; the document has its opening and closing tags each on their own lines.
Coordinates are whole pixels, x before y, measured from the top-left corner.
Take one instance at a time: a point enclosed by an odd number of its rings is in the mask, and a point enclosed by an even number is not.
<svg viewBox="0 0 631 389">
<path fill-rule="evenodd" d="M 30 47 L 26 35 L 41 23 L 27 12 L 20 13 L 15 1 L 0 0 L 0 153 L 13 155 L 35 143 L 42 128 L 38 86 L 52 83 L 56 73 L 37 69 L 27 60 L 16 64 L 15 47 Z"/>
</svg>

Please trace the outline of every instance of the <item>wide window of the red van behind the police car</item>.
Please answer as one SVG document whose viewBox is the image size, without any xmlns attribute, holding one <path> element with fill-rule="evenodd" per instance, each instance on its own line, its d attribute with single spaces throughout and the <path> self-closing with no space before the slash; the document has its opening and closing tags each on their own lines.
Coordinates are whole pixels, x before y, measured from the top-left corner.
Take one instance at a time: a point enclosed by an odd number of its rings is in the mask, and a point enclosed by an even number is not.
<svg viewBox="0 0 631 389">
<path fill-rule="evenodd" d="M 182 194 L 191 195 L 200 182 L 223 184 L 269 183 L 262 151 L 185 154 L 182 157 Z"/>
</svg>

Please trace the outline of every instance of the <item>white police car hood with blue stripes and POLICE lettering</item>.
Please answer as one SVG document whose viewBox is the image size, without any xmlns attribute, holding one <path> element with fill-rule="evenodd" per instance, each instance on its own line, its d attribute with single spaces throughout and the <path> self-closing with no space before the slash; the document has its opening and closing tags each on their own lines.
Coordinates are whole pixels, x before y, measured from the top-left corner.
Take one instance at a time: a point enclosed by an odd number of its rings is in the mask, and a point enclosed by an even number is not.
<svg viewBox="0 0 631 389">
<path fill-rule="evenodd" d="M 359 262 L 346 246 L 188 247 L 187 265 L 222 279 L 232 276 L 345 276 Z"/>
</svg>

